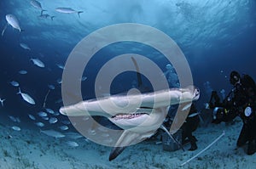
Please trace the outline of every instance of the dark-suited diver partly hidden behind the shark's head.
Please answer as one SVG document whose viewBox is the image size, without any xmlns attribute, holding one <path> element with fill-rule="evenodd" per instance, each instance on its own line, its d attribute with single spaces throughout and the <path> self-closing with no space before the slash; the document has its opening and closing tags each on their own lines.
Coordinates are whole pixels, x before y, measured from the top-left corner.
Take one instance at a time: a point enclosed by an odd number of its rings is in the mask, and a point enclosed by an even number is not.
<svg viewBox="0 0 256 169">
<path fill-rule="evenodd" d="M 199 115 L 195 108 L 195 104 L 192 103 L 189 115 L 186 118 L 186 121 L 183 123 L 182 129 L 182 144 L 190 143 L 191 147 L 189 151 L 194 151 L 197 149 L 196 141 L 197 139 L 195 136 L 192 135 L 192 132 L 195 132 L 196 128 L 199 126 Z"/>
</svg>

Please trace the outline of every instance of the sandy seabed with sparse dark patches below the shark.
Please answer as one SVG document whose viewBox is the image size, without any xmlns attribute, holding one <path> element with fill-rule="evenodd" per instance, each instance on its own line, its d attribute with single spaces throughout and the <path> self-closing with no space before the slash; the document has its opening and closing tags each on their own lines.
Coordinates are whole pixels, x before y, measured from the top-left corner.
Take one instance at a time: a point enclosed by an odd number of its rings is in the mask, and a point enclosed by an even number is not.
<svg viewBox="0 0 256 169">
<path fill-rule="evenodd" d="M 85 138 L 74 141 L 78 147 L 69 147 L 67 138 L 52 138 L 37 129 L 22 127 L 15 131 L 9 125 L 0 126 L 1 149 L 0 168 L 256 168 L 256 154 L 247 155 L 247 146 L 236 148 L 236 139 L 242 123 L 236 119 L 235 124 L 224 123 L 208 127 L 199 127 L 194 133 L 198 139 L 195 151 L 165 151 L 156 141 L 144 141 L 131 145 L 115 160 L 108 161 L 112 148 L 92 143 Z M 198 154 L 223 131 L 224 137 L 198 155 L 194 160 L 181 166 Z M 189 149 L 189 144 L 184 146 Z"/>
</svg>

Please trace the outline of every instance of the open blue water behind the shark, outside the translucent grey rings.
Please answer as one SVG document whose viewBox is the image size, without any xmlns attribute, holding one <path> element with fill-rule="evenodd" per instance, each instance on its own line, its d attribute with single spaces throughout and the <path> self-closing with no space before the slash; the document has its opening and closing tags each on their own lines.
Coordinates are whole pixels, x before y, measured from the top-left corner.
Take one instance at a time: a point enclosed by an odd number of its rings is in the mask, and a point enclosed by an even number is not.
<svg viewBox="0 0 256 169">
<path fill-rule="evenodd" d="M 138 23 L 150 25 L 177 42 L 189 62 L 195 86 L 201 89 L 199 108 L 209 99 L 205 82 L 210 82 L 212 89 L 218 92 L 231 89 L 229 74 L 231 70 L 249 74 L 256 79 L 256 2 L 255 0 L 112 0 L 112 1 L 40 1 L 47 10 L 44 14 L 54 15 L 55 19 L 42 19 L 40 10 L 32 7 L 30 1 L 1 0 L 0 29 L 7 21 L 6 14 L 14 14 L 20 21 L 22 32 L 10 25 L 3 37 L 0 37 L 0 98 L 6 99 L 1 112 L 19 116 L 24 122 L 27 113 L 37 115 L 43 110 L 44 97 L 48 85 L 50 90 L 46 107 L 58 111 L 63 105 L 55 103 L 61 99 L 62 70 L 56 64 L 65 65 L 68 55 L 84 37 L 104 26 L 119 23 Z M 61 14 L 58 7 L 70 7 L 84 11 L 80 14 Z M 31 50 L 20 48 L 20 42 L 26 43 Z M 139 48 L 139 50 L 137 50 Z M 138 52 L 136 52 L 138 51 Z M 95 98 L 94 82 L 97 71 L 108 60 L 119 54 L 142 54 L 159 65 L 163 72 L 169 64 L 161 54 L 137 42 L 120 42 L 102 48 L 93 59 L 82 82 L 84 99 Z M 31 58 L 38 58 L 45 67 L 32 65 Z M 172 64 L 172 63 L 171 63 Z M 27 70 L 20 75 L 19 70 Z M 174 78 L 174 77 L 173 77 Z M 27 104 L 17 87 L 11 81 L 20 83 L 22 92 L 29 93 L 36 104 Z M 123 93 L 129 90 L 132 82 L 137 85 L 134 72 L 120 74 L 113 82 L 111 93 Z M 150 87 L 150 82 L 143 76 L 143 82 Z M 170 82 L 170 87 L 175 86 Z M 60 119 L 67 119 L 60 116 Z"/>
</svg>

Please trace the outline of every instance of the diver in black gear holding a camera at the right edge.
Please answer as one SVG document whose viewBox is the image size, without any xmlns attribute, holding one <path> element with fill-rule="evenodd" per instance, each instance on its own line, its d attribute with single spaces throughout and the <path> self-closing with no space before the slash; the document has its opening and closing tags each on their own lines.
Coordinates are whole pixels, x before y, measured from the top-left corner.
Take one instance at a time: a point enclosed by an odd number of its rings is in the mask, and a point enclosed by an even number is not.
<svg viewBox="0 0 256 169">
<path fill-rule="evenodd" d="M 247 155 L 253 155 L 256 151 L 255 82 L 251 76 L 240 76 L 237 71 L 232 71 L 230 73 L 230 84 L 234 87 L 224 99 L 224 103 L 218 104 L 216 107 L 212 105 L 212 108 L 215 107 L 212 122 L 218 124 L 221 121 L 233 120 L 237 115 L 240 116 L 243 126 L 236 145 L 241 147 L 248 142 Z"/>
</svg>

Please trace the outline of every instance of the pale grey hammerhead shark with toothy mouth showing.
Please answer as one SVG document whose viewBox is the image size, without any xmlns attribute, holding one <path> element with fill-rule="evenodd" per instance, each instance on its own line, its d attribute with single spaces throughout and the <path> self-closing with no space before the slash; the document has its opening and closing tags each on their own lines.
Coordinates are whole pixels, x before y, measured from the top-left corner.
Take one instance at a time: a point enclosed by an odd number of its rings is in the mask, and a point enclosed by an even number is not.
<svg viewBox="0 0 256 169">
<path fill-rule="evenodd" d="M 140 83 L 141 79 L 138 78 L 138 82 Z M 127 145 L 150 138 L 159 128 L 165 130 L 172 137 L 172 133 L 175 133 L 183 122 L 176 127 L 171 127 L 170 132 L 167 131 L 162 123 L 168 113 L 169 106 L 181 105 L 173 121 L 178 123 L 177 121 L 185 120 L 189 114 L 189 111 L 186 111 L 188 105 L 199 97 L 199 89 L 194 86 L 170 88 L 149 93 L 133 93 L 125 96 L 111 95 L 100 99 L 85 100 L 78 104 L 61 107 L 60 112 L 62 115 L 68 116 L 104 116 L 116 126 L 124 129 L 109 155 L 109 161 L 112 161 Z M 114 105 L 119 105 L 119 107 Z"/>
</svg>

